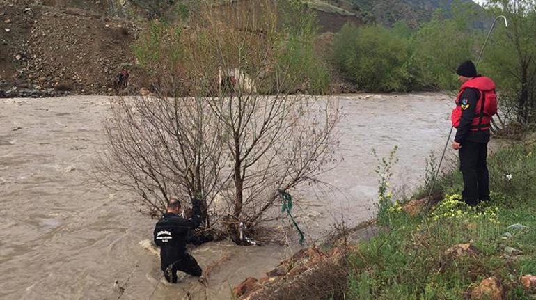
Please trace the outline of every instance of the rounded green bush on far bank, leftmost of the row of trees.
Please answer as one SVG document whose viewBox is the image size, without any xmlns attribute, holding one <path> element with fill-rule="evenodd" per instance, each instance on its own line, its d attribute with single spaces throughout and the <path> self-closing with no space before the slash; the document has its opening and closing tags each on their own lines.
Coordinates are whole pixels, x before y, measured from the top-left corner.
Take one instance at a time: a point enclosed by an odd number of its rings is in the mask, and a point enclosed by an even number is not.
<svg viewBox="0 0 536 300">
<path fill-rule="evenodd" d="M 411 89 L 407 61 L 410 42 L 403 26 L 345 24 L 333 41 L 333 61 L 358 88 L 368 91 Z"/>
</svg>

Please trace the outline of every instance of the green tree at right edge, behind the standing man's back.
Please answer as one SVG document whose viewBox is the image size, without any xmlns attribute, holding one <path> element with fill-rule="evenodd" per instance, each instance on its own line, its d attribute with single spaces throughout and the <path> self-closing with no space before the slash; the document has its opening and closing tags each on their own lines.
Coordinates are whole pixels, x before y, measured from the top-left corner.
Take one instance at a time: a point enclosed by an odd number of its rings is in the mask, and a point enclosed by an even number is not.
<svg viewBox="0 0 536 300">
<path fill-rule="evenodd" d="M 505 15 L 508 28 L 496 29 L 483 66 L 497 79 L 501 99 L 513 100 L 518 122 L 528 125 L 536 120 L 536 3 L 494 0 L 486 8 L 490 15 Z"/>
</svg>

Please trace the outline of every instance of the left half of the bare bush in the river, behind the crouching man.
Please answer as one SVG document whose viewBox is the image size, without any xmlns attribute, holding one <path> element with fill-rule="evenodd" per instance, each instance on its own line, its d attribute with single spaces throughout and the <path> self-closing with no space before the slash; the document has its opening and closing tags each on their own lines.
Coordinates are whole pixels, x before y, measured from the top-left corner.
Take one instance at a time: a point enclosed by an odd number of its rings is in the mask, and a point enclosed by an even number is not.
<svg viewBox="0 0 536 300">
<path fill-rule="evenodd" d="M 136 191 L 141 212 L 151 216 L 165 212 L 173 196 L 200 198 L 210 226 L 207 208 L 224 183 L 216 118 L 199 98 L 168 92 L 111 100 L 106 149 L 97 165 L 100 180 Z"/>
</svg>

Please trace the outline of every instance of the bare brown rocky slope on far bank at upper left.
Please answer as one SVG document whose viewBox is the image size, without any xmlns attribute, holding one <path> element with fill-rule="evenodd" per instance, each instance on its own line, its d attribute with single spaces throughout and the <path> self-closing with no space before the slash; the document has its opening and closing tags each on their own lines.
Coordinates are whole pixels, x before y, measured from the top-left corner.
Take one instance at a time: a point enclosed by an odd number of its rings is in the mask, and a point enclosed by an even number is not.
<svg viewBox="0 0 536 300">
<path fill-rule="evenodd" d="M 141 29 L 125 19 L 0 0 L 0 24 L 0 97 L 114 93 L 121 68 L 135 69 Z"/>
</svg>

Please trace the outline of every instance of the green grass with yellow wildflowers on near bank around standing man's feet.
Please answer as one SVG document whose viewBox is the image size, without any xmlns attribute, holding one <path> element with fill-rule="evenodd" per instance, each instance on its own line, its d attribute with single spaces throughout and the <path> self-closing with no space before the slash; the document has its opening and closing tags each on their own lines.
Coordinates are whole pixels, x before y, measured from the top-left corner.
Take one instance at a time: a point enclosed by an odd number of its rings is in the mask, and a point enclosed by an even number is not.
<svg viewBox="0 0 536 300">
<path fill-rule="evenodd" d="M 466 299 L 483 278 L 496 276 L 505 299 L 533 299 L 520 277 L 536 274 L 536 147 L 503 148 L 489 159 L 492 200 L 476 208 L 457 199 L 459 171 L 443 175 L 445 200 L 431 212 L 411 217 L 400 205 L 387 209 L 386 229 L 358 246 L 349 258 L 349 299 Z M 536 151 L 535 151 L 536 154 Z M 505 175 L 512 174 L 512 180 Z M 529 228 L 507 229 L 515 223 Z M 503 239 L 505 232 L 512 237 Z M 473 244 L 475 257 L 446 258 L 455 244 Z M 523 251 L 505 253 L 505 247 Z"/>
</svg>

